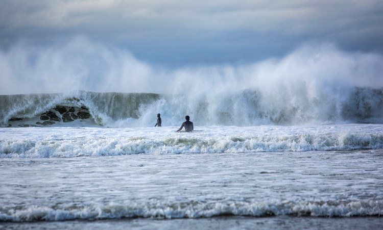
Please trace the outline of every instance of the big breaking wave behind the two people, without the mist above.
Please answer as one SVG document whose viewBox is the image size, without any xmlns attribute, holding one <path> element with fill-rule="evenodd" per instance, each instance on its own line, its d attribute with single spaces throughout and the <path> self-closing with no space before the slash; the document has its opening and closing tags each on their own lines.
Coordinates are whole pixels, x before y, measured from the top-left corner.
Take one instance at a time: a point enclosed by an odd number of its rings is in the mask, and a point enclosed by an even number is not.
<svg viewBox="0 0 383 230">
<path fill-rule="evenodd" d="M 0 95 L 0 125 L 145 127 L 153 125 L 157 113 L 164 125 L 179 125 L 185 115 L 199 125 L 383 122 L 383 89 L 355 87 L 343 94 L 316 97 L 310 97 L 307 90 L 300 89 L 291 98 L 255 89 L 202 97 L 86 91 Z M 66 109 L 60 112 L 60 108 Z M 79 116 L 79 112 L 90 116 Z M 55 119 L 46 118 L 47 113 Z M 77 119 L 87 122 L 71 122 Z"/>
</svg>

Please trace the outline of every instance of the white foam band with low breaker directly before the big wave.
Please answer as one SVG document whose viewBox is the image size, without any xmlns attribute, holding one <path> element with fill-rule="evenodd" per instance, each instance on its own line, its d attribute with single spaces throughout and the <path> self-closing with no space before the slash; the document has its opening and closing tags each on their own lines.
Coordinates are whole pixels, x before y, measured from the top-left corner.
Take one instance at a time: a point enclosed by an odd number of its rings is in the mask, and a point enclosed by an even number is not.
<svg viewBox="0 0 383 230">
<path fill-rule="evenodd" d="M 379 149 L 383 125 L 51 127 L 0 130 L 1 158 Z"/>
</svg>

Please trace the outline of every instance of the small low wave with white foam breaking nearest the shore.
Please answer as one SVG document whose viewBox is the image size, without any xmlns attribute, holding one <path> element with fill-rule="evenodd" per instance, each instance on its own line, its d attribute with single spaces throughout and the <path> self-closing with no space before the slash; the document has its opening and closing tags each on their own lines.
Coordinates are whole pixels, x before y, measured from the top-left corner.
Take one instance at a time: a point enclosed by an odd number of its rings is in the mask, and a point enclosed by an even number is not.
<svg viewBox="0 0 383 230">
<path fill-rule="evenodd" d="M 0 221 L 63 221 L 117 218 L 206 218 L 213 216 L 315 216 L 315 217 L 358 217 L 383 215 L 383 201 L 190 201 L 184 203 L 100 204 L 91 206 L 60 205 L 55 207 L 20 206 L 18 209 L 0 210 Z M 6 211 L 7 210 L 7 211 Z"/>
</svg>

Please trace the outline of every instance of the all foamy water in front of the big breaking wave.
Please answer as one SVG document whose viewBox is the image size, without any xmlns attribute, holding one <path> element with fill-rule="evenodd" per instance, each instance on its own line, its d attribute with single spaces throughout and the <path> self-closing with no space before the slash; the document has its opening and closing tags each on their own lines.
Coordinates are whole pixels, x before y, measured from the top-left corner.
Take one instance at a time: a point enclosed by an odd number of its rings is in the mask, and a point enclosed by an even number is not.
<svg viewBox="0 0 383 230">
<path fill-rule="evenodd" d="M 383 125 L 177 128 L 1 129 L 1 226 L 383 224 Z"/>
</svg>

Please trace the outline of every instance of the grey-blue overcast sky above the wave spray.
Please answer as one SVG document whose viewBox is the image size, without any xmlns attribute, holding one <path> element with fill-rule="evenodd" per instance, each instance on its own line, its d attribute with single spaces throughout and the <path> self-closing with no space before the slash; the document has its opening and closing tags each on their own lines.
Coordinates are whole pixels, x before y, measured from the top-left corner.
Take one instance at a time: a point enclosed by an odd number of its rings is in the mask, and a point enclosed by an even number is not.
<svg viewBox="0 0 383 230">
<path fill-rule="evenodd" d="M 158 65 L 248 63 L 303 44 L 383 53 L 381 0 L 0 0 L 0 48 L 84 36 Z"/>
</svg>

